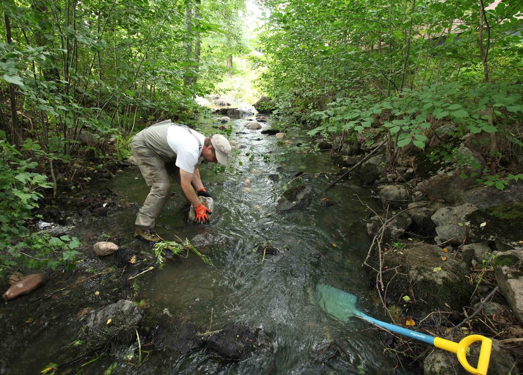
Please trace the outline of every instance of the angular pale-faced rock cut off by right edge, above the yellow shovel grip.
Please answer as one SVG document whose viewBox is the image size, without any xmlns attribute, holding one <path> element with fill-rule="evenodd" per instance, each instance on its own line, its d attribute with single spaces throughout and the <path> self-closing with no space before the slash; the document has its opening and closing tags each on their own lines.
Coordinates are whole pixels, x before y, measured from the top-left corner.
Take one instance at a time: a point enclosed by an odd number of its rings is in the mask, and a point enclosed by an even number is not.
<svg viewBox="0 0 523 375">
<path fill-rule="evenodd" d="M 494 275 L 499 290 L 523 322 L 523 249 L 494 252 Z"/>
</svg>

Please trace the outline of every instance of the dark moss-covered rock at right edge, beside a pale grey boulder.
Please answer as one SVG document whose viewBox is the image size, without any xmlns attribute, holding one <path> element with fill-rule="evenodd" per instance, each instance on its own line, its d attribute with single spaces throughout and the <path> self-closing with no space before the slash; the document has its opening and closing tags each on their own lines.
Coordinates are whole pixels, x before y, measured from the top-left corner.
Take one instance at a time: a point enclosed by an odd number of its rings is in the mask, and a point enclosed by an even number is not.
<svg viewBox="0 0 523 375">
<path fill-rule="evenodd" d="M 470 221 L 471 241 L 497 240 L 517 247 L 523 240 L 523 202 L 479 209 L 469 213 L 466 219 Z"/>
</svg>

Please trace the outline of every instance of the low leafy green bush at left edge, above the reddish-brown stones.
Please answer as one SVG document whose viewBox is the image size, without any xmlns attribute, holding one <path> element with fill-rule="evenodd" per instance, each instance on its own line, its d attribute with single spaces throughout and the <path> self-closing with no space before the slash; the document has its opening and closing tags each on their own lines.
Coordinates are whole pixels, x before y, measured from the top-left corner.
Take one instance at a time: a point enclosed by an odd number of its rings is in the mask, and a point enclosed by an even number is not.
<svg viewBox="0 0 523 375">
<path fill-rule="evenodd" d="M 42 197 L 38 189 L 49 188 L 47 177 L 31 172 L 36 162 L 20 158 L 5 140 L 0 140 L 0 277 L 19 267 L 56 269 L 73 267 L 78 238 L 32 233 L 27 221 Z"/>
</svg>

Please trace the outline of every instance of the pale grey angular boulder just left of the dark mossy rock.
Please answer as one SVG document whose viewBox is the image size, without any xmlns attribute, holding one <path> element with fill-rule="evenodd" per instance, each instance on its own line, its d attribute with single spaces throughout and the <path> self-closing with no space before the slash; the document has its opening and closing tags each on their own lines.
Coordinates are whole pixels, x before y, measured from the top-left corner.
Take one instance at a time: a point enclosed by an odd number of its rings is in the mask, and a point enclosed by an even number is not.
<svg viewBox="0 0 523 375">
<path fill-rule="evenodd" d="M 469 203 L 437 210 L 431 216 L 432 221 L 436 224 L 436 233 L 438 234 L 434 241 L 438 244 L 445 242 L 452 245 L 464 243 L 468 227 L 465 217 L 475 210 L 476 207 Z"/>
</svg>

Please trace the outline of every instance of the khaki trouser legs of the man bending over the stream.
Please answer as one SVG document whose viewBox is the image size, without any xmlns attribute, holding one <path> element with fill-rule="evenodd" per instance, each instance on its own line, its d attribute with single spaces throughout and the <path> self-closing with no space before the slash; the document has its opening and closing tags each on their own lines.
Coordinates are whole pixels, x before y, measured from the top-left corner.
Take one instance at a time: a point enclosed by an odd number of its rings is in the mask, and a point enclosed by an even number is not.
<svg viewBox="0 0 523 375">
<path fill-rule="evenodd" d="M 175 166 L 174 161 L 166 163 L 153 152 L 143 141 L 141 132 L 133 138 L 131 152 L 140 167 L 145 183 L 151 187 L 134 223 L 142 228 L 153 229 L 156 218 L 170 197 L 169 175 L 179 184 L 180 169 Z"/>
</svg>

